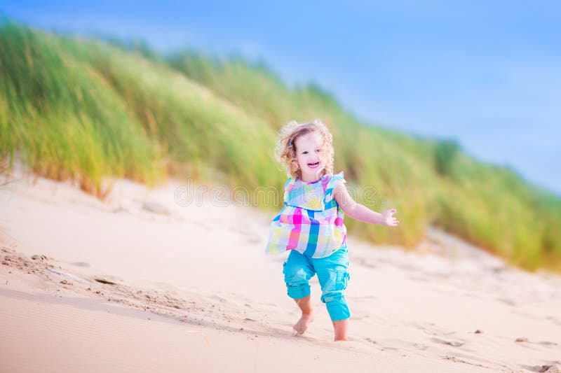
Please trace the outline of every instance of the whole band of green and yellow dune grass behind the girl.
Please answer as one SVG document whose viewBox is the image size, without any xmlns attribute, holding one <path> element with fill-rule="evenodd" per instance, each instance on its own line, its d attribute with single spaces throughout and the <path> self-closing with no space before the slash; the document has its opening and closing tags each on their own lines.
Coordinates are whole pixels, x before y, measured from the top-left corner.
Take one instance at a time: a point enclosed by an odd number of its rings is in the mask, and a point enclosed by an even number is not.
<svg viewBox="0 0 561 373">
<path fill-rule="evenodd" d="M 114 178 L 153 185 L 168 174 L 281 190 L 276 131 L 321 118 L 334 136 L 335 170 L 356 199 L 376 211 L 394 207 L 402 222 L 390 230 L 346 219 L 351 234 L 414 247 L 435 224 L 520 267 L 561 269 L 559 197 L 454 141 L 360 122 L 318 85 L 288 87 L 263 63 L 192 50 L 163 56 L 145 43 L 13 22 L 0 28 L 0 62 L 0 157 L 8 164 L 20 157 L 98 197 Z M 262 195 L 251 202 L 279 207 Z"/>
</svg>

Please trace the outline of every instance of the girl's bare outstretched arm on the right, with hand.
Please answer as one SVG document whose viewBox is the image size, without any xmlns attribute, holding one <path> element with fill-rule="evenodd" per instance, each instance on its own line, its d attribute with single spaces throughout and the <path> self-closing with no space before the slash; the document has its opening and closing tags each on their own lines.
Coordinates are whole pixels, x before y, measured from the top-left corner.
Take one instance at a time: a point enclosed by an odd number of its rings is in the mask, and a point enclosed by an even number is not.
<svg viewBox="0 0 561 373">
<path fill-rule="evenodd" d="M 388 227 L 397 227 L 399 224 L 399 220 L 393 217 L 393 214 L 398 212 L 396 209 L 388 209 L 383 213 L 368 209 L 349 195 L 349 191 L 346 190 L 342 181 L 339 181 L 339 184 L 334 188 L 333 197 L 344 213 L 353 219 L 370 224 L 387 225 Z"/>
</svg>

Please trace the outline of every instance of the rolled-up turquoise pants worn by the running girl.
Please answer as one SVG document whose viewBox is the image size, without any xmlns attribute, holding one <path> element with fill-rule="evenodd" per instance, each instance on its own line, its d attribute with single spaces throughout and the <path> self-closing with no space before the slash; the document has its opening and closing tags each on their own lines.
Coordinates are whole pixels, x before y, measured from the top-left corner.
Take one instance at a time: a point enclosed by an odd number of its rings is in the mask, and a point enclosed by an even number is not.
<svg viewBox="0 0 561 373">
<path fill-rule="evenodd" d="M 332 321 L 351 317 L 345 300 L 345 289 L 349 276 L 349 250 L 346 242 L 325 258 L 309 258 L 292 250 L 283 264 L 283 274 L 288 288 L 288 296 L 300 299 L 310 295 L 309 279 L 318 274 L 321 286 L 321 301 L 325 303 Z"/>
</svg>

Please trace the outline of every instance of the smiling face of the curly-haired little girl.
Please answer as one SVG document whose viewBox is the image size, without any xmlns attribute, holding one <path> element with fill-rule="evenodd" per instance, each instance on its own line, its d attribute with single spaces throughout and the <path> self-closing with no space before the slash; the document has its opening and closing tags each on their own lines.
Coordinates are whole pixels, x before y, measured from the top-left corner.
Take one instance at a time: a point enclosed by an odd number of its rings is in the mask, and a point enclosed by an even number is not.
<svg viewBox="0 0 561 373">
<path fill-rule="evenodd" d="M 300 167 L 300 179 L 306 183 L 318 180 L 323 174 L 325 157 L 323 157 L 323 139 L 318 132 L 309 132 L 298 136 L 295 141 L 296 160 Z"/>
</svg>

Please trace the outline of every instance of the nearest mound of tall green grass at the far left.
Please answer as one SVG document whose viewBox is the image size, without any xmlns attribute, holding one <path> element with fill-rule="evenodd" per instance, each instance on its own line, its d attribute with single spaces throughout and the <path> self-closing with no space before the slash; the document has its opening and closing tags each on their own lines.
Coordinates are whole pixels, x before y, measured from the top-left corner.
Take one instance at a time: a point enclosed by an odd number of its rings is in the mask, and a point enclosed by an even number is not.
<svg viewBox="0 0 561 373">
<path fill-rule="evenodd" d="M 158 143 L 144 134 L 100 74 L 52 36 L 4 26 L 0 38 L 0 151 L 38 174 L 104 196 L 104 176 L 153 183 Z"/>
</svg>

